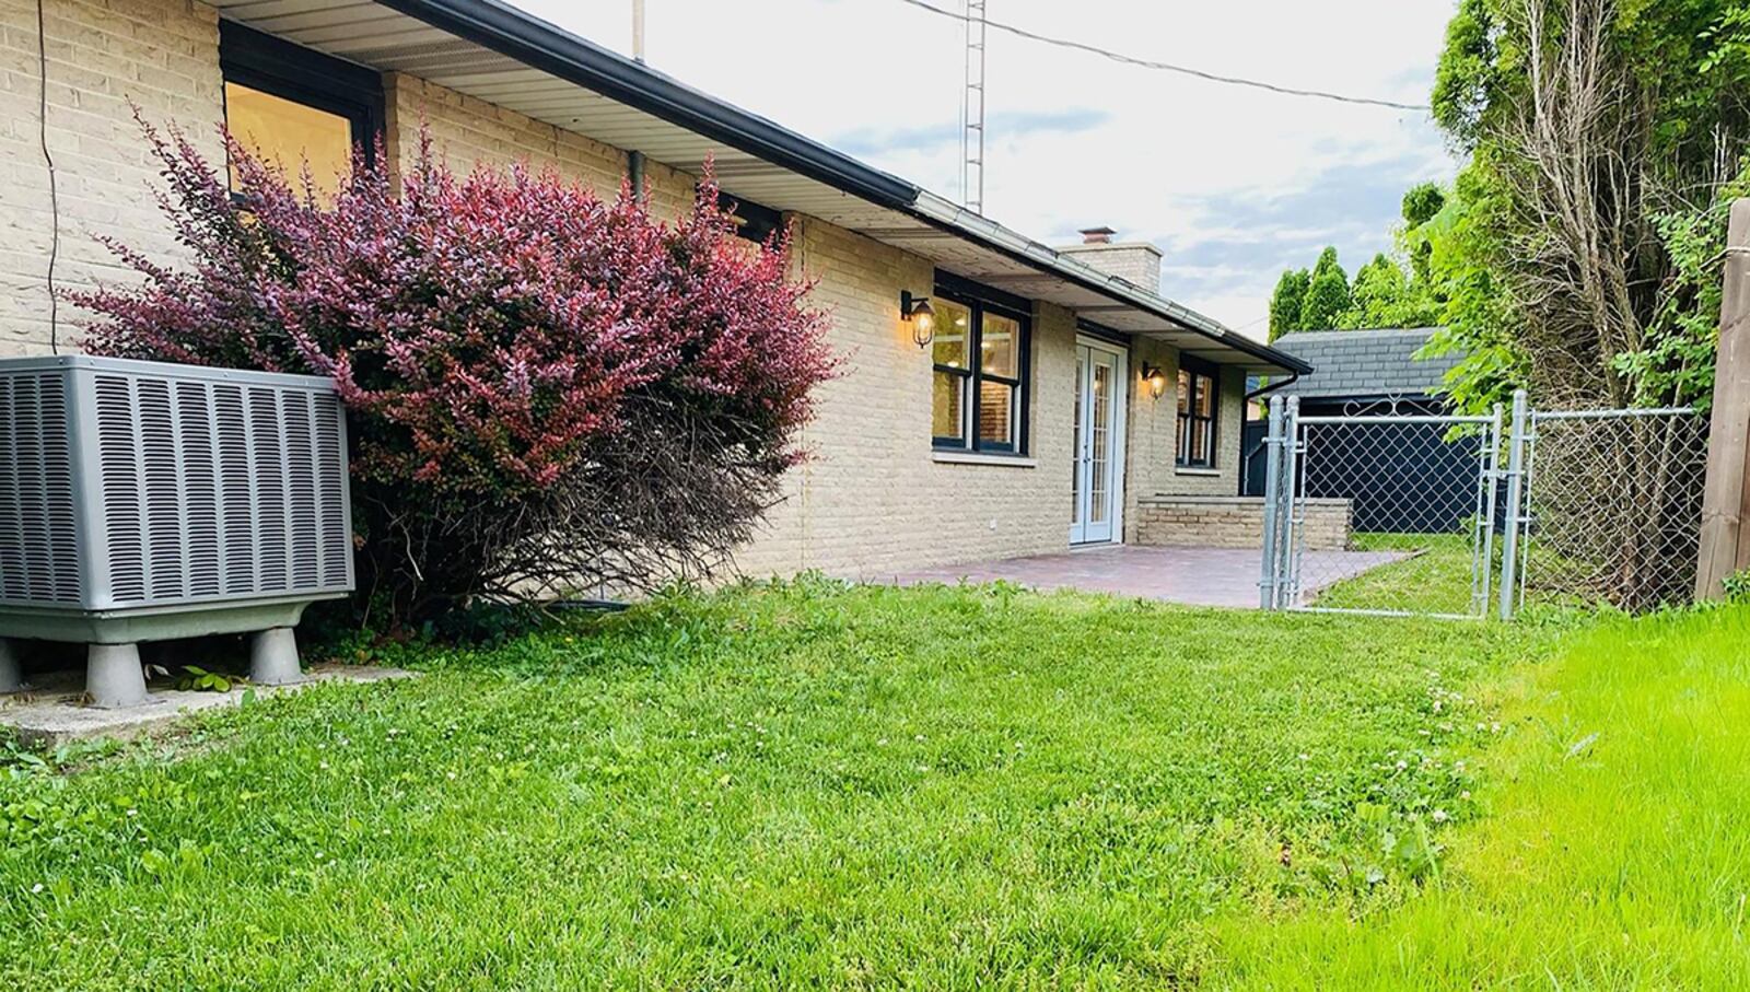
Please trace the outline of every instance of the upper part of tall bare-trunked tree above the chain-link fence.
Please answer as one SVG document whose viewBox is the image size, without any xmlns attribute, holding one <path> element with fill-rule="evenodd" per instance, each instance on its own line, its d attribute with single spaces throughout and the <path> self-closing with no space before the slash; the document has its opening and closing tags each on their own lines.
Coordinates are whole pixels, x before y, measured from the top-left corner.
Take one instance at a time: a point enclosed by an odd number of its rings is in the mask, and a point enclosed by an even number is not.
<svg viewBox="0 0 1750 992">
<path fill-rule="evenodd" d="M 1724 247 L 1720 198 L 1750 150 L 1743 3 L 1465 0 L 1433 115 L 1470 156 L 1442 278 L 1498 296 L 1447 313 L 1470 402 L 1514 385 L 1544 404 L 1704 402 L 1712 345 L 1687 329 L 1706 280 L 1678 271 L 1673 238 L 1712 217 Z"/>
</svg>

